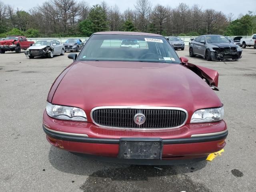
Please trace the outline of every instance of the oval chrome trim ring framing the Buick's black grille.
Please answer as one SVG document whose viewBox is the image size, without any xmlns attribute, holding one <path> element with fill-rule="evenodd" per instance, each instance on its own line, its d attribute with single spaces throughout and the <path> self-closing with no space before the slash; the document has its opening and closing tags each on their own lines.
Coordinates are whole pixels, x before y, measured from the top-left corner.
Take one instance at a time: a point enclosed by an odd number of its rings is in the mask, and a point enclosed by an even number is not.
<svg viewBox="0 0 256 192">
<path fill-rule="evenodd" d="M 169 128 L 154 128 L 154 129 L 151 129 L 151 128 L 142 128 L 142 129 L 139 129 L 139 128 L 125 128 L 125 127 L 110 127 L 110 126 L 102 126 L 102 125 L 99 125 L 97 124 L 94 119 L 92 118 L 92 113 L 95 111 L 95 110 L 98 110 L 98 109 L 165 109 L 165 110 L 181 110 L 183 112 L 186 113 L 186 120 L 184 121 L 184 123 L 180 126 L 177 126 L 177 127 L 169 127 Z M 182 126 L 184 126 L 184 124 L 186 124 L 187 120 L 188 120 L 188 112 L 185 110 L 185 109 L 182 109 L 182 108 L 178 108 L 178 107 L 156 107 L 156 106 L 100 106 L 100 107 L 95 107 L 91 110 L 91 113 L 90 113 L 90 117 L 92 119 L 92 122 L 99 126 L 99 127 L 102 127 L 102 128 L 112 128 L 112 129 L 129 129 L 129 130 L 141 130 L 141 131 L 156 131 L 156 130 L 166 130 L 166 129 L 174 129 L 174 128 L 180 128 Z"/>
</svg>

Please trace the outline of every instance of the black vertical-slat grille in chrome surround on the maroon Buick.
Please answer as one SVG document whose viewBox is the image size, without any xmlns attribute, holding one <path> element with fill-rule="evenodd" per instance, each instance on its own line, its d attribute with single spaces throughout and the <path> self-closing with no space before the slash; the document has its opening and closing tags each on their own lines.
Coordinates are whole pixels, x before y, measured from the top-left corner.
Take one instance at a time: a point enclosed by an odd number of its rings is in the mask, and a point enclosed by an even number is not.
<svg viewBox="0 0 256 192">
<path fill-rule="evenodd" d="M 142 113 L 146 121 L 142 125 L 134 122 L 134 116 Z M 187 112 L 181 108 L 94 108 L 91 118 L 98 126 L 114 128 L 174 128 L 185 124 Z"/>
</svg>

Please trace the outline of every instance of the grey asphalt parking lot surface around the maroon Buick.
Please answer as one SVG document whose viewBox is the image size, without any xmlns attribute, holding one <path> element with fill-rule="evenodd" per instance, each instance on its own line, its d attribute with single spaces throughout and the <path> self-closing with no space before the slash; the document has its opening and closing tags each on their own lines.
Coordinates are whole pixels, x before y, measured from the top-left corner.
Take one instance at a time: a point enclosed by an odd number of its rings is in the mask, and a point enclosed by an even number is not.
<svg viewBox="0 0 256 192">
<path fill-rule="evenodd" d="M 0 54 L 0 191 L 2 192 L 255 192 L 256 49 L 236 62 L 189 62 L 218 70 L 216 92 L 225 107 L 225 152 L 212 162 L 132 166 L 89 160 L 51 146 L 42 130 L 46 97 L 72 60 Z"/>
</svg>

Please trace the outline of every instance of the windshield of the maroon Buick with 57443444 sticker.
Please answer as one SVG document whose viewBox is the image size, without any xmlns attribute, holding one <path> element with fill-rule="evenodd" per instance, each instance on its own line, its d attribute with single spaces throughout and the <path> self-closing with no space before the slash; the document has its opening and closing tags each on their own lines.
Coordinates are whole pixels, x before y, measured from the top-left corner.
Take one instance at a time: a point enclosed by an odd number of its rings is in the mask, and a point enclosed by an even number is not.
<svg viewBox="0 0 256 192">
<path fill-rule="evenodd" d="M 92 35 L 78 60 L 180 63 L 164 37 L 118 34 Z"/>
</svg>

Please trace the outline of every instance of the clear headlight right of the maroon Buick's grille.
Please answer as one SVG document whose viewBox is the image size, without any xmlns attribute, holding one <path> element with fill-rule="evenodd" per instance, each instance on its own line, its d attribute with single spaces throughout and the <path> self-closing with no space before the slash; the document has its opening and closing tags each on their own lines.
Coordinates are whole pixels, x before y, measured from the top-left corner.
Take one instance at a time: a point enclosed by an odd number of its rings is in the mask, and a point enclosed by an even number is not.
<svg viewBox="0 0 256 192">
<path fill-rule="evenodd" d="M 190 123 L 216 122 L 224 117 L 224 107 L 200 109 L 194 112 Z"/>
</svg>

